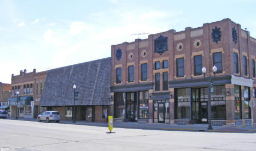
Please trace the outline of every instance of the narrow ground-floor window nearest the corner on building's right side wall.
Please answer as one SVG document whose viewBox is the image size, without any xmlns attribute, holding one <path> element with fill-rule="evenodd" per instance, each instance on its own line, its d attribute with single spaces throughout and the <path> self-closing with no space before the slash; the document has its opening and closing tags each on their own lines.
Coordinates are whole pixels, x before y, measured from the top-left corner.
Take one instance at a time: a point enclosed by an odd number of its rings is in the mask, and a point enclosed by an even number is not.
<svg viewBox="0 0 256 151">
<path fill-rule="evenodd" d="M 235 119 L 241 119 L 241 88 L 235 86 Z"/>
</svg>

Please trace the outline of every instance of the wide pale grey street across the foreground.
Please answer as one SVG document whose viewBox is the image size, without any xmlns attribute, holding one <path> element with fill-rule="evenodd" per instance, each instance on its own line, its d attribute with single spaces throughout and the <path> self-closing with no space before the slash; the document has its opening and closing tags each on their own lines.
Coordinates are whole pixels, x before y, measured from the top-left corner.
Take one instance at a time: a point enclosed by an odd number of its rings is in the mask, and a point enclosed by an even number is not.
<svg viewBox="0 0 256 151">
<path fill-rule="evenodd" d="M 256 150 L 256 134 L 165 131 L 0 119 L 3 150 Z"/>
</svg>

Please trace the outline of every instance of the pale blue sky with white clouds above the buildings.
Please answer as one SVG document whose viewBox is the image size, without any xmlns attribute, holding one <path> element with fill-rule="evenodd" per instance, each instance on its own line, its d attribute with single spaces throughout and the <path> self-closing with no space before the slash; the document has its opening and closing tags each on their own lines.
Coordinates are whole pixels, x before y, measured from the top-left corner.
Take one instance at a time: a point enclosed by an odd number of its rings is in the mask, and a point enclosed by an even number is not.
<svg viewBox="0 0 256 151">
<path fill-rule="evenodd" d="M 201 27 L 226 18 L 256 38 L 256 1 L 0 0 L 0 81 L 110 57 L 137 33 Z M 147 39 L 148 34 L 140 35 Z"/>
</svg>

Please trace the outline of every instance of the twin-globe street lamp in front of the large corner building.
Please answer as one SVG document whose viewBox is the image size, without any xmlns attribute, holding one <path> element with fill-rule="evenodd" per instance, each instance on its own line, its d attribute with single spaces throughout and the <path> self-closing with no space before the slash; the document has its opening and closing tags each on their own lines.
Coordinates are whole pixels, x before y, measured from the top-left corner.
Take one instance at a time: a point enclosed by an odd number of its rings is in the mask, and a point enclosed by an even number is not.
<svg viewBox="0 0 256 151">
<path fill-rule="evenodd" d="M 216 71 L 217 71 L 217 67 L 214 65 L 212 67 L 212 71 L 213 71 L 213 74 L 214 74 L 214 77 L 215 77 L 215 74 L 216 74 Z M 202 73 L 203 73 L 203 77 L 205 78 L 205 74 L 206 74 L 206 68 L 203 67 L 202 68 Z M 211 92 L 210 92 L 210 89 L 211 89 L 211 73 L 210 73 L 210 76 L 209 76 L 209 86 L 208 86 L 208 130 L 212 130 L 212 122 L 211 122 Z"/>
</svg>

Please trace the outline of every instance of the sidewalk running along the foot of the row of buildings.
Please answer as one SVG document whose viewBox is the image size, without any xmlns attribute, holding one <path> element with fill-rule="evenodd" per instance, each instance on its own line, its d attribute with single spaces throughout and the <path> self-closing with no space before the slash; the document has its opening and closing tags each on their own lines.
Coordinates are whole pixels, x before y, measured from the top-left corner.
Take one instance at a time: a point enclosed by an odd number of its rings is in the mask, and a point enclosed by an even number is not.
<svg viewBox="0 0 256 151">
<path fill-rule="evenodd" d="M 32 122 L 37 122 L 37 119 L 29 118 L 7 118 L 11 120 L 27 120 Z M 77 125 L 88 125 L 88 126 L 102 126 L 108 127 L 108 123 L 98 123 L 98 122 L 86 122 L 84 120 L 78 120 L 75 123 L 72 120 L 61 120 L 60 123 L 63 124 L 77 124 Z M 127 129 L 148 129 L 148 130 L 178 130 L 178 131 L 207 131 L 207 132 L 253 132 L 256 133 L 256 128 L 251 127 L 232 127 L 232 126 L 212 126 L 213 130 L 208 130 L 208 124 L 193 124 L 193 125 L 170 125 L 170 124 L 141 124 L 136 122 L 119 123 L 114 122 L 114 128 L 127 128 Z"/>
</svg>

